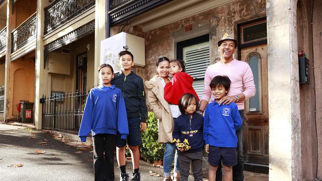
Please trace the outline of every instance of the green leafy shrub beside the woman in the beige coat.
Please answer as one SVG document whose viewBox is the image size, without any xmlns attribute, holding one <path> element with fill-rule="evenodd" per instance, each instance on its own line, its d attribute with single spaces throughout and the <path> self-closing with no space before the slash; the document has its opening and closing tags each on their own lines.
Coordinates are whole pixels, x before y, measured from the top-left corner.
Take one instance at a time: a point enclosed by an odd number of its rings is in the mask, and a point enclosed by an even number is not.
<svg viewBox="0 0 322 181">
<path fill-rule="evenodd" d="M 153 112 L 148 112 L 147 129 L 142 132 L 141 157 L 147 162 L 163 159 L 164 144 L 158 143 L 158 120 Z"/>
</svg>

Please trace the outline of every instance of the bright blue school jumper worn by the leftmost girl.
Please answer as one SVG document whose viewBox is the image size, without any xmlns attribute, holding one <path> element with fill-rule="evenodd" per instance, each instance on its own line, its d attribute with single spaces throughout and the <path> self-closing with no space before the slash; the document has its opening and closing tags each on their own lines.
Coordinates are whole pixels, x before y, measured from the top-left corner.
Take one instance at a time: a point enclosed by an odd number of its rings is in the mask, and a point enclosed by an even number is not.
<svg viewBox="0 0 322 181">
<path fill-rule="evenodd" d="M 110 87 L 100 85 L 88 94 L 78 133 L 82 142 L 86 141 L 91 130 L 92 136 L 116 135 L 118 131 L 121 138 L 126 139 L 129 134 L 123 95 L 114 85 Z"/>
</svg>

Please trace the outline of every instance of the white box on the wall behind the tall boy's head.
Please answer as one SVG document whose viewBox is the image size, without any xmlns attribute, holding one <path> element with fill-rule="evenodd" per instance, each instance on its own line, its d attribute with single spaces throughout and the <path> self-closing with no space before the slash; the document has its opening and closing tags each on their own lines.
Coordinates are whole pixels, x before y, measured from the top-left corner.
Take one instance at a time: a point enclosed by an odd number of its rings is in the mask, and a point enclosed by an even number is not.
<svg viewBox="0 0 322 181">
<path fill-rule="evenodd" d="M 100 64 L 112 65 L 114 72 L 120 71 L 118 53 L 126 50 L 134 56 L 134 65 L 145 66 L 145 42 L 144 38 L 121 32 L 101 41 Z"/>
</svg>

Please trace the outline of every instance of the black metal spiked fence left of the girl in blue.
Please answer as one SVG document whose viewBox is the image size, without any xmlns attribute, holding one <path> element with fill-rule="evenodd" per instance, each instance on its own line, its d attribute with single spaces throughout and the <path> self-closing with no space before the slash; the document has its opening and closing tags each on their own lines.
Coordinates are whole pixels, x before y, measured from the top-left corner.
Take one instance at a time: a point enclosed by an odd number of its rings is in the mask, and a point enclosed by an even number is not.
<svg viewBox="0 0 322 181">
<path fill-rule="evenodd" d="M 89 91 L 53 91 L 51 95 L 43 95 L 42 128 L 78 132 Z"/>
</svg>

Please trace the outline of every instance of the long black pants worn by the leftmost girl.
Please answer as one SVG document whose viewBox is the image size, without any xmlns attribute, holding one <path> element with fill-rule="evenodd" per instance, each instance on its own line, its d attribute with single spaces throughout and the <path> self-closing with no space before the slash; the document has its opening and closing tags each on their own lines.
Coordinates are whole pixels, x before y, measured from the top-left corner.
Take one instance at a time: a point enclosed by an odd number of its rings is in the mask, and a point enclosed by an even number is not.
<svg viewBox="0 0 322 181">
<path fill-rule="evenodd" d="M 114 181 L 115 140 L 111 134 L 93 136 L 95 181 Z"/>
</svg>

